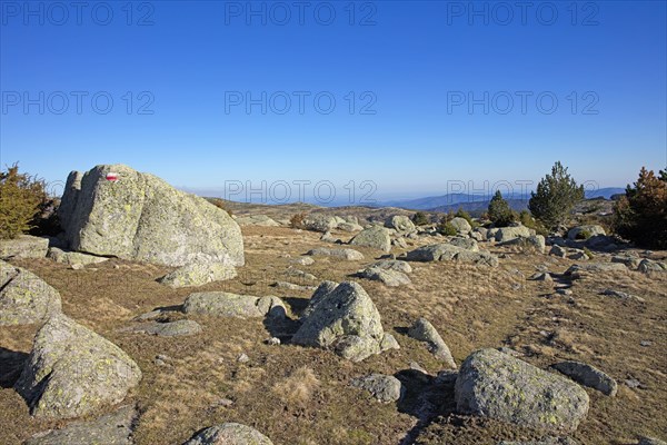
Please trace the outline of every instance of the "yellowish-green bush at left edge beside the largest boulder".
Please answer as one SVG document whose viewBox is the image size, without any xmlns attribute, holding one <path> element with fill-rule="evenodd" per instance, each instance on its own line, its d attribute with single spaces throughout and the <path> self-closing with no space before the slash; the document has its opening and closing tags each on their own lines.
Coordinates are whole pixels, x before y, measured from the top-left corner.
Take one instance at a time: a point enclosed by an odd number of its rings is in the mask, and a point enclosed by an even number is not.
<svg viewBox="0 0 667 445">
<path fill-rule="evenodd" d="M 48 200 L 44 181 L 19 174 L 18 164 L 1 171 L 0 238 L 16 238 L 36 227 L 36 217 Z"/>
</svg>

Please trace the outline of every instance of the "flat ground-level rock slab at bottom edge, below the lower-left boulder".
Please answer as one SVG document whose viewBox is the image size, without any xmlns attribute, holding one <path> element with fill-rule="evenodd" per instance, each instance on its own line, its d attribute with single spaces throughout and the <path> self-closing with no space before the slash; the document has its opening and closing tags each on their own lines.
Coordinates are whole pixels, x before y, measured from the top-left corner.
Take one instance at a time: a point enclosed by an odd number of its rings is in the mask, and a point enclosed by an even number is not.
<svg viewBox="0 0 667 445">
<path fill-rule="evenodd" d="M 26 441 L 24 445 L 133 445 L 132 429 L 137 416 L 135 406 L 122 406 L 94 421 L 74 422 L 62 429 L 39 433 Z"/>
</svg>

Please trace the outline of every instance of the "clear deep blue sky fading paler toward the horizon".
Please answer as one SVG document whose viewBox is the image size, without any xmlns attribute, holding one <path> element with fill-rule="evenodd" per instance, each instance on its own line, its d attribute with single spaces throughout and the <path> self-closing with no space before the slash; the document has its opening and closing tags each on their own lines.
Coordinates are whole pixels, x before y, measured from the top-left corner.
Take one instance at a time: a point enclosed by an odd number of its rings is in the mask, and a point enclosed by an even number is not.
<svg viewBox="0 0 667 445">
<path fill-rule="evenodd" d="M 122 162 L 382 199 L 667 162 L 664 1 L 26 4 L 0 9 L 1 164 L 49 181 Z"/>
</svg>

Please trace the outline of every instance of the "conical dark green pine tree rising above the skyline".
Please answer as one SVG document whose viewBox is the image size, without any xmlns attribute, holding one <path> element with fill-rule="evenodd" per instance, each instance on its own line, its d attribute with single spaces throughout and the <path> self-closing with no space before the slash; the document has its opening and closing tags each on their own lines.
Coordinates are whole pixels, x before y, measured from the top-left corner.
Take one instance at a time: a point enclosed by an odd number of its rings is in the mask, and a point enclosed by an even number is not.
<svg viewBox="0 0 667 445">
<path fill-rule="evenodd" d="M 545 176 L 537 191 L 530 194 L 528 209 L 548 229 L 554 229 L 566 222 L 573 207 L 583 199 L 584 186 L 578 186 L 567 167 L 557 161 L 551 175 Z"/>
</svg>

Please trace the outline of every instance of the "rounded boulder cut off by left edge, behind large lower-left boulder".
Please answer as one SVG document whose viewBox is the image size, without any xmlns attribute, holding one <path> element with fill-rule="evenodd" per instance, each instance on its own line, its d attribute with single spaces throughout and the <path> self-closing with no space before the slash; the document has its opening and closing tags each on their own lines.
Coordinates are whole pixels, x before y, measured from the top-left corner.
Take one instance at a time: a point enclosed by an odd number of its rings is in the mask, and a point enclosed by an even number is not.
<svg viewBox="0 0 667 445">
<path fill-rule="evenodd" d="M 30 270 L 0 260 L 0 326 L 40 323 L 60 310 L 58 290 Z"/>
</svg>

